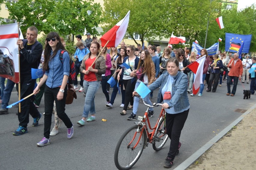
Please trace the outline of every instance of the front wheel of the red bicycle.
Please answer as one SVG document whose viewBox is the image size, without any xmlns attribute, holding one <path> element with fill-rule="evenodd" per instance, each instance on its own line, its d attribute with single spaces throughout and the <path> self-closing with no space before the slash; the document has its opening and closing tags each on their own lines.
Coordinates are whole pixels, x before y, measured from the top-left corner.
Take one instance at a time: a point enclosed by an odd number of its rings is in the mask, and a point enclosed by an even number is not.
<svg viewBox="0 0 256 170">
<path fill-rule="evenodd" d="M 116 167 L 120 170 L 126 170 L 133 167 L 139 160 L 144 146 L 147 144 L 146 131 L 143 130 L 142 132 L 136 132 L 137 128 L 138 125 L 134 125 L 127 129 L 117 143 L 114 154 L 114 161 Z M 140 135 L 141 137 L 139 138 Z M 138 145 L 136 148 L 133 148 L 137 142 Z"/>
</svg>

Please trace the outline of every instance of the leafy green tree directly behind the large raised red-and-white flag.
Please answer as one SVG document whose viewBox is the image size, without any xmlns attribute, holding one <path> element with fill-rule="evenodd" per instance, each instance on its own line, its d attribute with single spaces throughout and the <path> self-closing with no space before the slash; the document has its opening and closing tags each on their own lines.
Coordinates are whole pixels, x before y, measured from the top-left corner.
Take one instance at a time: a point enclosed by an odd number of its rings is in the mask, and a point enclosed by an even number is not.
<svg viewBox="0 0 256 170">
<path fill-rule="evenodd" d="M 156 19 L 159 18 L 159 1 L 147 0 L 104 0 L 104 25 L 106 32 L 119 22 L 130 10 L 130 20 L 127 33 L 133 38 L 134 33 L 141 37 L 141 43 L 144 39 L 154 40 L 155 37 L 162 35 L 162 27 L 156 27 Z M 161 26 L 161 25 L 160 25 Z M 134 38 L 134 42 L 138 44 Z"/>
</svg>

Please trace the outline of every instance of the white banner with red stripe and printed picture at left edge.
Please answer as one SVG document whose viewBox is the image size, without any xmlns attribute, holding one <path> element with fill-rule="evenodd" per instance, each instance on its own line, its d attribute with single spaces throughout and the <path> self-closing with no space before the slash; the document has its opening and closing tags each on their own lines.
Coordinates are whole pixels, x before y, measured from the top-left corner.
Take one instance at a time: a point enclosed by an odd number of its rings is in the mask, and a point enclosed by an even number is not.
<svg viewBox="0 0 256 170">
<path fill-rule="evenodd" d="M 0 25 L 0 77 L 19 80 L 19 38 L 17 23 Z"/>
</svg>

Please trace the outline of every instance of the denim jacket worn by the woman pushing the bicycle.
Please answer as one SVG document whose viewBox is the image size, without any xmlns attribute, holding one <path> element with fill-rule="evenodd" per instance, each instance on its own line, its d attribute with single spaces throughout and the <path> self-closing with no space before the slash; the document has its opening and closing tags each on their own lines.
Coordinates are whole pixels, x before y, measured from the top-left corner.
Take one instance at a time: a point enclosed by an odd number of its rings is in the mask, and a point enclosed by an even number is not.
<svg viewBox="0 0 256 170">
<path fill-rule="evenodd" d="M 153 91 L 160 87 L 157 95 L 157 103 L 161 103 L 163 101 L 162 89 L 168 80 L 168 72 L 164 72 L 156 81 L 154 81 L 148 88 Z M 181 73 L 180 71 L 174 77 L 174 81 L 172 83 L 172 99 L 168 103 L 170 107 L 174 107 L 174 111 L 180 111 L 189 106 L 189 101 L 187 97 L 187 87 L 188 87 L 188 79 L 187 75 Z"/>
</svg>

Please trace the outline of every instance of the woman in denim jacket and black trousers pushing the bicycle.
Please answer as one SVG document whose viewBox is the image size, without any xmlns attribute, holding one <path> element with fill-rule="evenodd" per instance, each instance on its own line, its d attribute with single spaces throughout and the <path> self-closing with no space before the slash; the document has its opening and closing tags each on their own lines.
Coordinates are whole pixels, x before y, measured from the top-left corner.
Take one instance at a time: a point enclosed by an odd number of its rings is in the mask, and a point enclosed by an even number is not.
<svg viewBox="0 0 256 170">
<path fill-rule="evenodd" d="M 179 69 L 178 60 L 176 58 L 170 58 L 166 66 L 167 72 L 164 72 L 148 88 L 153 91 L 160 87 L 157 103 L 164 102 L 162 107 L 166 110 L 166 131 L 171 139 L 169 153 L 163 166 L 170 168 L 181 147 L 179 139 L 181 130 L 187 119 L 190 105 L 187 97 L 187 75 Z M 172 97 L 165 95 L 165 92 L 171 92 Z M 133 92 L 133 95 L 136 94 L 136 91 Z"/>
</svg>

